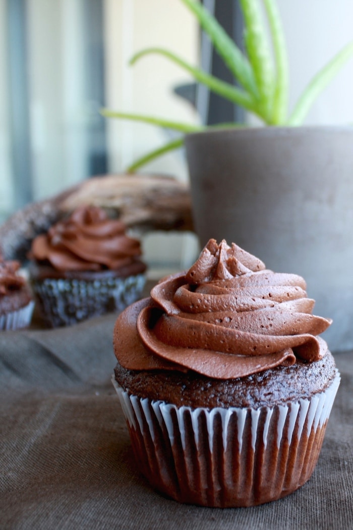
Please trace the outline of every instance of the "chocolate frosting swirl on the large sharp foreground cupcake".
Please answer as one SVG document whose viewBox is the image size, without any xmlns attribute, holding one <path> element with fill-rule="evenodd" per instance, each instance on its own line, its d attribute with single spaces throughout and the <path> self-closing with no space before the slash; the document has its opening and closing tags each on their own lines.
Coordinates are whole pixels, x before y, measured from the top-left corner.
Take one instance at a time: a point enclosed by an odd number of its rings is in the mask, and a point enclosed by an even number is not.
<svg viewBox="0 0 353 530">
<path fill-rule="evenodd" d="M 150 300 L 117 319 L 116 357 L 125 368 L 220 379 L 292 365 L 296 356 L 319 360 L 327 345 L 317 335 L 331 320 L 312 315 L 305 288 L 302 277 L 267 270 L 239 246 L 210 240 L 191 269 L 161 280 Z"/>
</svg>

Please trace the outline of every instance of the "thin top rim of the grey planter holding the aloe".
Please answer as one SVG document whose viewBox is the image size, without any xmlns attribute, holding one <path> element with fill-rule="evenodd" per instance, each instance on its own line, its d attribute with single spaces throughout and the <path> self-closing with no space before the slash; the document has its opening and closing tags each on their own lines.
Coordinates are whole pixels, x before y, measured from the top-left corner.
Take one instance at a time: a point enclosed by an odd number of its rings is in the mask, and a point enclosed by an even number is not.
<svg viewBox="0 0 353 530">
<path fill-rule="evenodd" d="M 264 126 L 264 127 L 224 127 L 222 129 L 212 129 L 197 131 L 195 133 L 187 133 L 185 135 L 185 141 L 188 142 L 193 138 L 213 137 L 219 135 L 225 136 L 259 136 L 259 137 L 285 137 L 285 136 L 298 136 L 298 135 L 327 135 L 335 133 L 348 133 L 353 136 L 353 127 L 351 125 L 305 125 L 298 127 L 278 127 L 278 126 Z"/>
</svg>

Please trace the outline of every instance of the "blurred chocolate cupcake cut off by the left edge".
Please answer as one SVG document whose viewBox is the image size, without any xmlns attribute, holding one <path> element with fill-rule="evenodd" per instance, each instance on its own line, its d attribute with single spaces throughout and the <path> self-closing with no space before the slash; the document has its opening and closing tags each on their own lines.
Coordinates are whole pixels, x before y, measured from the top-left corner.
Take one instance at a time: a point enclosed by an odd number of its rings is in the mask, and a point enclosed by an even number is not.
<svg viewBox="0 0 353 530">
<path fill-rule="evenodd" d="M 25 328 L 31 322 L 34 302 L 19 268 L 19 261 L 5 261 L 0 255 L 0 330 Z"/>
</svg>

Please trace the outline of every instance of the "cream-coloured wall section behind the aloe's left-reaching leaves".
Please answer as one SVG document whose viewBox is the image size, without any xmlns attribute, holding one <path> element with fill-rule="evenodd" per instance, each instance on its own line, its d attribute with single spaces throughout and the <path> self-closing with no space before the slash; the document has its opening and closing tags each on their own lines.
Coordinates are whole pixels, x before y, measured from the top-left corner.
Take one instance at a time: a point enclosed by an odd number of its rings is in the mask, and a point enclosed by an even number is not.
<svg viewBox="0 0 353 530">
<path fill-rule="evenodd" d="M 113 110 L 194 123 L 196 114 L 173 87 L 190 81 L 180 67 L 160 56 L 147 56 L 133 66 L 129 59 L 147 47 L 165 47 L 196 64 L 197 25 L 179 0 L 105 0 L 106 105 Z M 165 131 L 150 125 L 108 120 L 111 171 L 168 141 Z M 186 178 L 180 153 L 164 156 L 144 171 Z"/>
</svg>

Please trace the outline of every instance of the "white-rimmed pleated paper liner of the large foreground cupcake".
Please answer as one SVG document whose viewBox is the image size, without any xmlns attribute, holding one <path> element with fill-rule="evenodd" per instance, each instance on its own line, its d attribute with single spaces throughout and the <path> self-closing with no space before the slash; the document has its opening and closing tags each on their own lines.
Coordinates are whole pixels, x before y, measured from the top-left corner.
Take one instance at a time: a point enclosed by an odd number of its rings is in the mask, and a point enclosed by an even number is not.
<svg viewBox="0 0 353 530">
<path fill-rule="evenodd" d="M 273 408 L 176 407 L 129 395 L 112 378 L 138 468 L 179 502 L 254 506 L 309 480 L 340 383 Z"/>
</svg>

